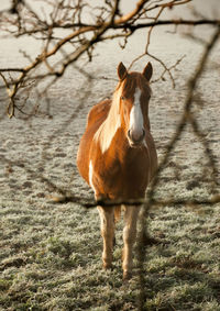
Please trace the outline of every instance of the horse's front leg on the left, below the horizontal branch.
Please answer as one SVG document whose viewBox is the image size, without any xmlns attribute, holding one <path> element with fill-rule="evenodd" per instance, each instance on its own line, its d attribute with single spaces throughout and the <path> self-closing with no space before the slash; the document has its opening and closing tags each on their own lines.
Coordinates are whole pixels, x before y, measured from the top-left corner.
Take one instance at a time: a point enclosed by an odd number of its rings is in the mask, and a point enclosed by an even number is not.
<svg viewBox="0 0 220 311">
<path fill-rule="evenodd" d="M 101 235 L 103 238 L 102 263 L 103 268 L 108 269 L 112 264 L 112 249 L 114 240 L 114 214 L 113 208 L 98 207 L 101 220 Z"/>
</svg>

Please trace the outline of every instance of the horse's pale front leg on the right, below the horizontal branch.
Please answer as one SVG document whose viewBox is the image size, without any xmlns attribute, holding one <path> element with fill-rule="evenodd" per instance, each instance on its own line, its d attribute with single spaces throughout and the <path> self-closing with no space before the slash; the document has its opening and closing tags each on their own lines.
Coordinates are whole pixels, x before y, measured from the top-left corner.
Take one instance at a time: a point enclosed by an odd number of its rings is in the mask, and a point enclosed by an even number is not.
<svg viewBox="0 0 220 311">
<path fill-rule="evenodd" d="M 136 222 L 140 207 L 127 206 L 124 211 L 124 229 L 123 229 L 123 279 L 128 279 L 132 273 L 132 249 L 136 237 Z"/>
</svg>

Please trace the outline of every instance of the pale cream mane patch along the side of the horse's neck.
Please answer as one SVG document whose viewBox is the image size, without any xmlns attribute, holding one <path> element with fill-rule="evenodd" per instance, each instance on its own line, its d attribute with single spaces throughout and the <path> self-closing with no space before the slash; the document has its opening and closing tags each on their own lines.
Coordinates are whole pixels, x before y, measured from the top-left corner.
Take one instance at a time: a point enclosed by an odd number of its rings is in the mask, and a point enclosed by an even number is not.
<svg viewBox="0 0 220 311">
<path fill-rule="evenodd" d="M 98 129 L 95 140 L 99 143 L 102 154 L 110 147 L 113 136 L 121 127 L 120 115 L 120 92 L 116 91 L 112 98 L 111 108 L 105 122 Z"/>
</svg>

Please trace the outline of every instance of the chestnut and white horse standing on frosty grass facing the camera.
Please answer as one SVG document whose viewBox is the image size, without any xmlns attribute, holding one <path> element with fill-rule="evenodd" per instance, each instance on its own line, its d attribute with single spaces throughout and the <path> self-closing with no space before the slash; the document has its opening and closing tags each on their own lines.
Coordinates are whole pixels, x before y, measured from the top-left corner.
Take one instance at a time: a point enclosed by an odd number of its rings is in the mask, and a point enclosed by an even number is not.
<svg viewBox="0 0 220 311">
<path fill-rule="evenodd" d="M 94 189 L 97 200 L 136 200 L 145 190 L 157 167 L 157 156 L 150 132 L 151 63 L 143 73 L 128 73 L 118 66 L 119 84 L 112 100 L 92 107 L 81 137 L 77 165 Z M 114 215 L 117 207 L 98 207 L 103 238 L 105 268 L 112 264 Z M 132 248 L 136 236 L 140 207 L 124 206 L 123 278 L 132 270 Z"/>
</svg>

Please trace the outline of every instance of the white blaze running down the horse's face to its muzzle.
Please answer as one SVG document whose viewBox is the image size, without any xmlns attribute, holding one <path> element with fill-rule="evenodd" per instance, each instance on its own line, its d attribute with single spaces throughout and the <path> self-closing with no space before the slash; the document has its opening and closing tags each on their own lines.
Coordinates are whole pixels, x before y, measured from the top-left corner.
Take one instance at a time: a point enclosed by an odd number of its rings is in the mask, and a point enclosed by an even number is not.
<svg viewBox="0 0 220 311">
<path fill-rule="evenodd" d="M 134 93 L 134 103 L 130 112 L 130 124 L 129 130 L 134 140 L 139 140 L 143 135 L 144 129 L 144 118 L 141 109 L 141 90 L 139 88 L 135 89 Z"/>
</svg>

